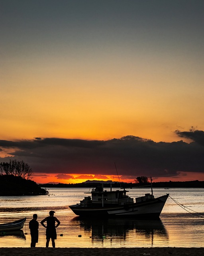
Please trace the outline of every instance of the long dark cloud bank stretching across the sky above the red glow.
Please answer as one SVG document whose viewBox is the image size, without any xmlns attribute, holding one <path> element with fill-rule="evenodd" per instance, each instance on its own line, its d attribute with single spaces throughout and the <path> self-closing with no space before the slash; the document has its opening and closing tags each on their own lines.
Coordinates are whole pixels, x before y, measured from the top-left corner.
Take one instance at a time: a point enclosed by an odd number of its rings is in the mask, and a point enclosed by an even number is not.
<svg viewBox="0 0 204 256">
<path fill-rule="evenodd" d="M 10 155 L 27 162 L 33 172 L 116 176 L 114 163 L 118 174 L 124 177 L 171 177 L 180 171 L 204 172 L 204 132 L 191 129 L 175 133 L 192 142 L 154 142 L 135 136 L 106 141 L 35 138 L 16 142 L 0 140 L 0 147 L 7 152 L 11 148 Z"/>
</svg>

